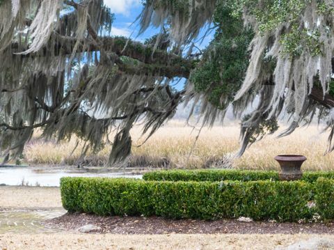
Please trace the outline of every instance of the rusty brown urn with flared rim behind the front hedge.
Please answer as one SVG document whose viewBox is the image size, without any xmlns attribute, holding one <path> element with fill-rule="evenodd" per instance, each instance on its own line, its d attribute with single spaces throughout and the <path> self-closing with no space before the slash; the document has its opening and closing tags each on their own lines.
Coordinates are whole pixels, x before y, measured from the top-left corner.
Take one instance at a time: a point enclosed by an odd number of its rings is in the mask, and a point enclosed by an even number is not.
<svg viewBox="0 0 334 250">
<path fill-rule="evenodd" d="M 303 176 L 301 164 L 305 162 L 303 155 L 278 155 L 274 159 L 280 164 L 280 180 L 300 180 Z"/>
</svg>

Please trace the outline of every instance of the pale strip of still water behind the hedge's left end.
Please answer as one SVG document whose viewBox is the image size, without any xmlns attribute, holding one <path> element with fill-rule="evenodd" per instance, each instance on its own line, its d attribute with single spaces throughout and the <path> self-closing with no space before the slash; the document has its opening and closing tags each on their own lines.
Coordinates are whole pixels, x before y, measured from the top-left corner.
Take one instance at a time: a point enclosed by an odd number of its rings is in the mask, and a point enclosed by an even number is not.
<svg viewBox="0 0 334 250">
<path fill-rule="evenodd" d="M 109 178 L 141 178 L 132 173 L 90 173 L 77 169 L 57 169 L 34 167 L 0 167 L 0 185 L 40 185 L 42 187 L 59 187 L 62 177 L 109 177 Z"/>
</svg>

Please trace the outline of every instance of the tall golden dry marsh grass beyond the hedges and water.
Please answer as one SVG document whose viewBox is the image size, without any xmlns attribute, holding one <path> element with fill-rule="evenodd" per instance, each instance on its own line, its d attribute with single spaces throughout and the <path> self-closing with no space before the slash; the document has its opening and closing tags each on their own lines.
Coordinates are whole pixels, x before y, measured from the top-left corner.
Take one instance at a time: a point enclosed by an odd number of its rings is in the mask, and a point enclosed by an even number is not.
<svg viewBox="0 0 334 250">
<path fill-rule="evenodd" d="M 308 157 L 303 165 L 306 170 L 334 170 L 334 153 L 324 155 L 326 134 L 319 134 L 317 127 L 301 128 L 294 134 L 276 139 L 277 134 L 267 136 L 246 150 L 239 159 L 232 155 L 239 148 L 239 127 L 205 127 L 197 143 L 194 141 L 198 127 L 183 123 L 169 123 L 161 127 L 146 143 L 141 143 L 141 127 L 132 130 L 134 146 L 128 166 L 157 166 L 170 168 L 198 169 L 203 167 L 225 167 L 236 169 L 278 169 L 273 157 L 280 154 L 301 154 Z M 111 147 L 99 153 L 88 152 L 80 159 L 81 149 L 72 150 L 75 139 L 55 144 L 34 139 L 26 147 L 24 157 L 29 164 L 84 164 L 102 165 L 109 157 Z M 72 153 L 72 154 L 71 154 Z"/>
</svg>

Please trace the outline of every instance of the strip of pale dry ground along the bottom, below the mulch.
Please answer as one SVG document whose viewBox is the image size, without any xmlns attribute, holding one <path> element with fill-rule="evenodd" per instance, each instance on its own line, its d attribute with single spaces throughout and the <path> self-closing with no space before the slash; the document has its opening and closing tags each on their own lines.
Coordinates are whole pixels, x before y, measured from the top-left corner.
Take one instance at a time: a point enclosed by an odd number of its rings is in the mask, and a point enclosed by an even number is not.
<svg viewBox="0 0 334 250">
<path fill-rule="evenodd" d="M 285 249 L 333 235 L 0 235 L 0 249 Z M 322 247 L 321 249 L 329 249 Z"/>
</svg>

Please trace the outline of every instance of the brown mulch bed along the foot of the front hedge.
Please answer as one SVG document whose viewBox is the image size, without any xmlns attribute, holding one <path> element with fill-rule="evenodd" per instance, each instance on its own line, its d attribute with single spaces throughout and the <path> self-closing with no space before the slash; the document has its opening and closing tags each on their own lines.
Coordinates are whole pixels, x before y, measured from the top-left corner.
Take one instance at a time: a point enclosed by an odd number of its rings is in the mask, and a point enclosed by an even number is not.
<svg viewBox="0 0 334 250">
<path fill-rule="evenodd" d="M 94 214 L 67 213 L 46 222 L 48 226 L 63 230 L 75 230 L 86 224 L 101 228 L 97 233 L 113 234 L 333 234 L 331 223 L 278 223 L 278 222 L 241 222 L 236 219 L 204 221 L 198 219 L 164 219 L 161 217 L 101 217 Z"/>
</svg>

